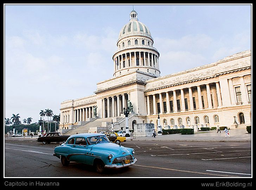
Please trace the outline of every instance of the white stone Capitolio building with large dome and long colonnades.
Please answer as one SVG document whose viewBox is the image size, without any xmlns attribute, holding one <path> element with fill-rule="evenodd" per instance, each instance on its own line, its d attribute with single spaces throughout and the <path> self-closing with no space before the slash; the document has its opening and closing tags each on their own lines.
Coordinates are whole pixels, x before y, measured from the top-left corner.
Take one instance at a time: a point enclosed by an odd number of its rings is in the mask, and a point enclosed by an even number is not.
<svg viewBox="0 0 256 190">
<path fill-rule="evenodd" d="M 131 11 L 112 57 L 113 77 L 98 82 L 91 96 L 63 101 L 59 131 L 72 135 L 125 129 L 123 109 L 130 103 L 128 126 L 135 131 L 147 124 L 158 130 L 159 120 L 162 129 L 195 131 L 251 125 L 250 50 L 160 76 L 160 53 L 153 44 L 149 28 Z"/>
</svg>

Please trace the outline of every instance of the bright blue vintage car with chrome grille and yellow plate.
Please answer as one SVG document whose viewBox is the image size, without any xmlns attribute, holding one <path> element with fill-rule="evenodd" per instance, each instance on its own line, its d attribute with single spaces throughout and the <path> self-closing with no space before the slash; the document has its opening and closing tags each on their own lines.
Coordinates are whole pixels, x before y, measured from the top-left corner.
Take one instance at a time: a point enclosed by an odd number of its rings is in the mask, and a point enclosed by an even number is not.
<svg viewBox="0 0 256 190">
<path fill-rule="evenodd" d="M 60 158 L 62 165 L 70 161 L 93 165 L 97 172 L 105 168 L 124 168 L 137 162 L 135 150 L 111 143 L 101 133 L 82 133 L 70 136 L 65 143 L 56 146 L 53 156 Z"/>
</svg>

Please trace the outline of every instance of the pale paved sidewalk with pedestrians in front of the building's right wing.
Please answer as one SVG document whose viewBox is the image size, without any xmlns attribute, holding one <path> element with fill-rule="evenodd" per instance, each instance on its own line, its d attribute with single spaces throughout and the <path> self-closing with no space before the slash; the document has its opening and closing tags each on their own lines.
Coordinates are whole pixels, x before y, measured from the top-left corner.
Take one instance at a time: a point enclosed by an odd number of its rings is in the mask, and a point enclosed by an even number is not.
<svg viewBox="0 0 256 190">
<path fill-rule="evenodd" d="M 196 142 L 251 142 L 251 133 L 246 129 L 229 130 L 229 136 L 225 138 L 225 132 L 217 133 L 213 131 L 198 131 L 194 135 L 157 135 L 154 137 L 136 137 L 133 140 L 155 140 L 155 141 L 196 141 Z"/>
</svg>

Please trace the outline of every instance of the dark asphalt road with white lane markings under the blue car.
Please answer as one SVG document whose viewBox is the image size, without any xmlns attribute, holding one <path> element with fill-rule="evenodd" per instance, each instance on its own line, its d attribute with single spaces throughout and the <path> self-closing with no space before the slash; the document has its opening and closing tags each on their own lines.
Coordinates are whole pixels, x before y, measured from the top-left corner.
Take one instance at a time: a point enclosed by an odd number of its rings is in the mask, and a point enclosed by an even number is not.
<svg viewBox="0 0 256 190">
<path fill-rule="evenodd" d="M 92 166 L 62 166 L 53 156 L 58 144 L 5 138 L 5 177 L 251 177 L 251 143 L 129 140 L 137 162 L 99 174 Z"/>
</svg>

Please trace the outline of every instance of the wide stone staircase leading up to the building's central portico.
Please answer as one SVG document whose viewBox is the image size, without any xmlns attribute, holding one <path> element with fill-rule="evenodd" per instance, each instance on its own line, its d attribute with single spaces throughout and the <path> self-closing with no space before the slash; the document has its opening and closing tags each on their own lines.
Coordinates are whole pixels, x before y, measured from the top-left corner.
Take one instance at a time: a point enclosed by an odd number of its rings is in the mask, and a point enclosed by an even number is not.
<svg viewBox="0 0 256 190">
<path fill-rule="evenodd" d="M 98 118 L 91 122 L 87 122 L 82 126 L 78 126 L 73 130 L 70 130 L 65 133 L 65 135 L 75 135 L 76 133 L 93 133 L 94 131 L 108 131 L 108 126 L 111 125 L 111 121 L 117 122 L 121 120 L 122 117 L 109 117 L 109 118 Z"/>
</svg>

